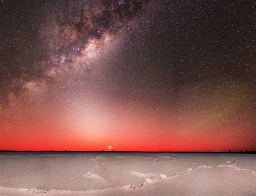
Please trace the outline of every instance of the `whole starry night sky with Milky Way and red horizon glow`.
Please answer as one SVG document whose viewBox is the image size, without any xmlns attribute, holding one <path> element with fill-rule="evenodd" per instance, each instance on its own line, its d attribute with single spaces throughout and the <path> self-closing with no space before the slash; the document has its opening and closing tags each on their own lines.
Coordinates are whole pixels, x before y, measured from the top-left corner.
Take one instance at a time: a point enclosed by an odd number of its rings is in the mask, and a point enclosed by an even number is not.
<svg viewBox="0 0 256 196">
<path fill-rule="evenodd" d="M 256 150 L 253 1 L 0 2 L 0 150 Z"/>
</svg>

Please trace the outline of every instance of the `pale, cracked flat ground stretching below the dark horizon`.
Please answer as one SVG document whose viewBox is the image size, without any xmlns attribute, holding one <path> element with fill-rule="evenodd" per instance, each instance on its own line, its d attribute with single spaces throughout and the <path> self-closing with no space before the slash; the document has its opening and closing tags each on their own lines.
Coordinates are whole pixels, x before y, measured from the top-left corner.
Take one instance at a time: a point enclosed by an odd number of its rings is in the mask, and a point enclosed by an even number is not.
<svg viewBox="0 0 256 196">
<path fill-rule="evenodd" d="M 1 152 L 1 195 L 256 195 L 256 155 Z"/>
</svg>

